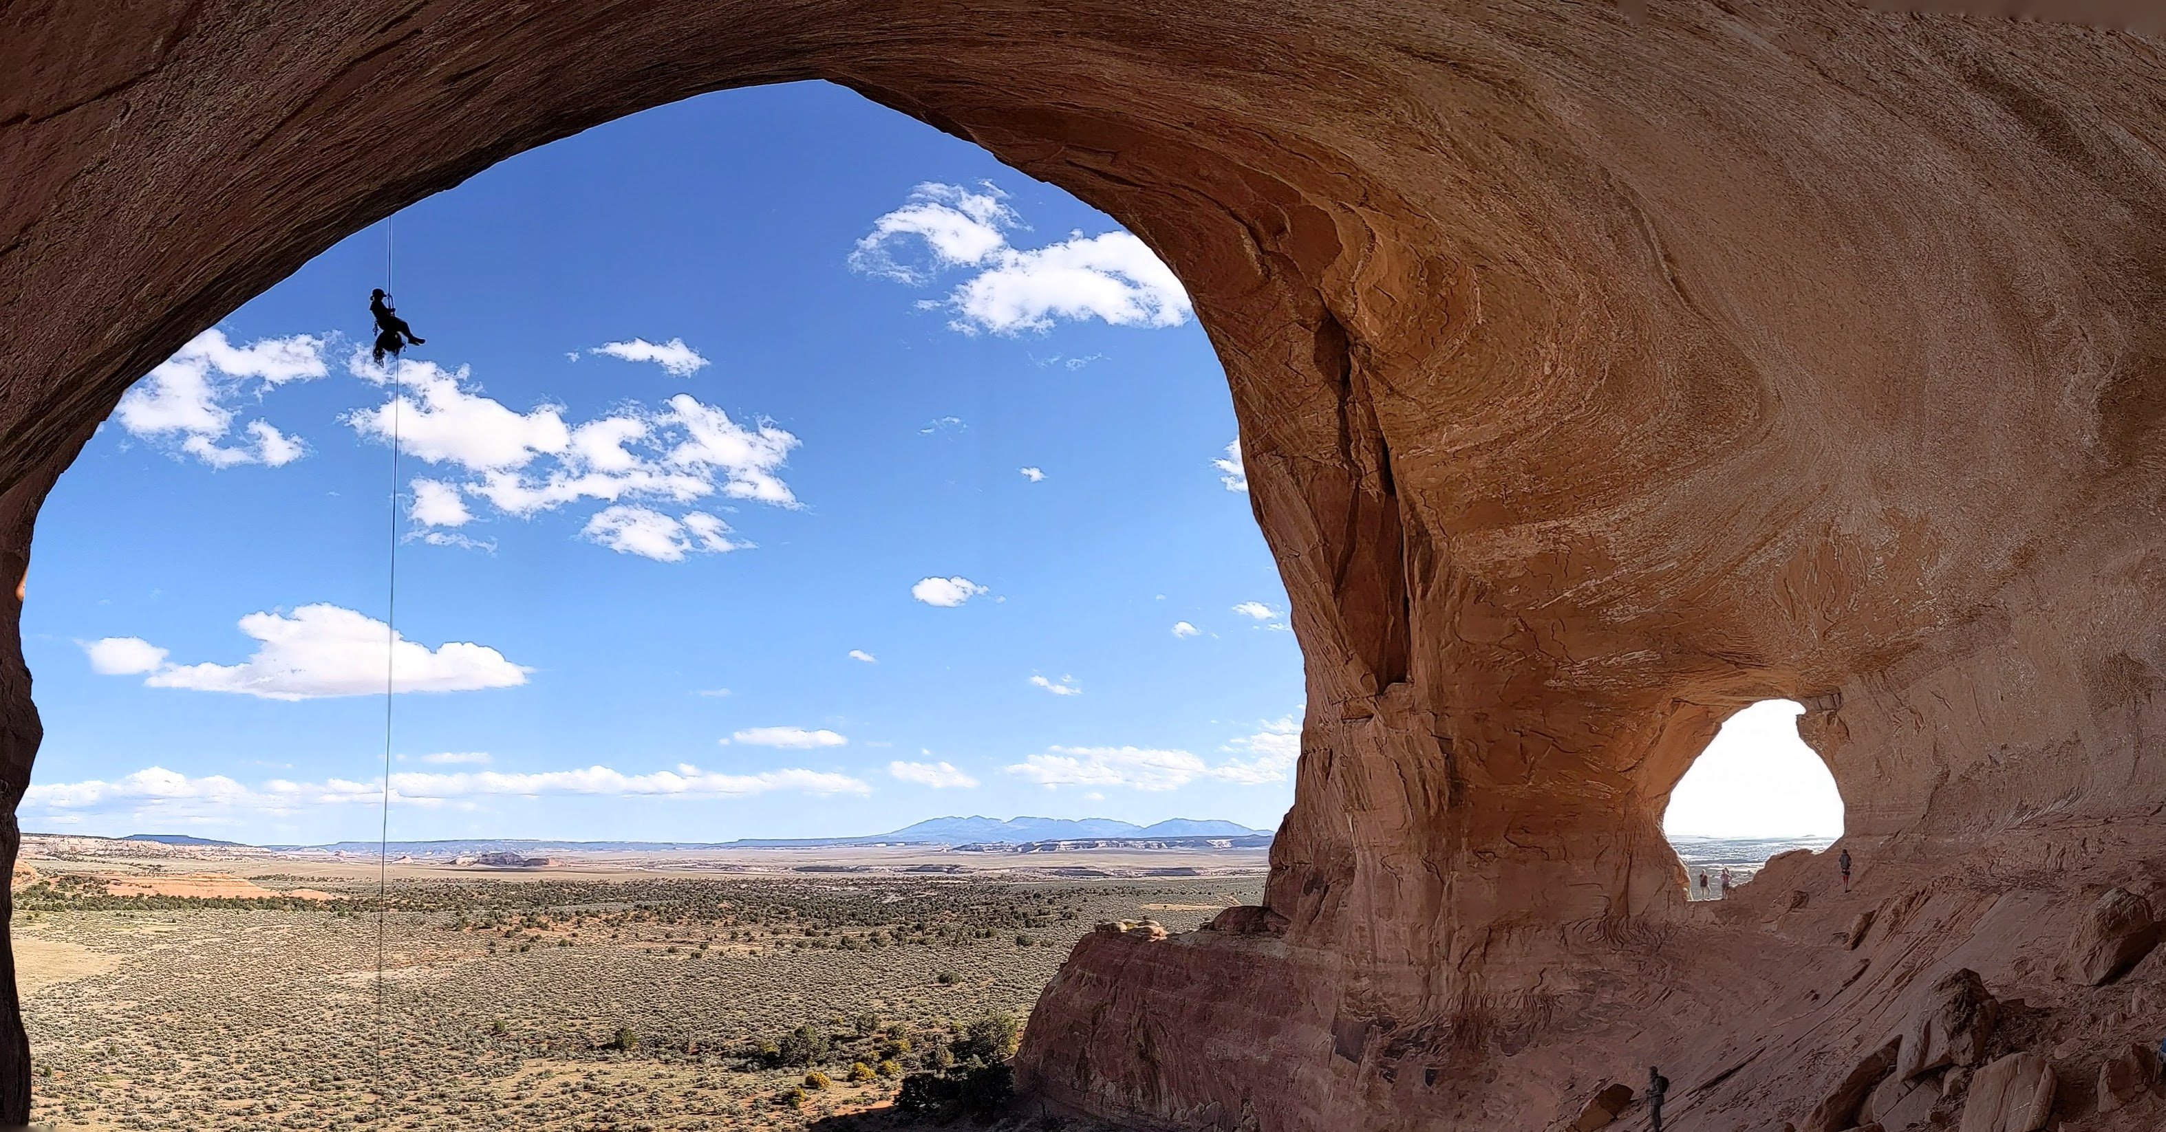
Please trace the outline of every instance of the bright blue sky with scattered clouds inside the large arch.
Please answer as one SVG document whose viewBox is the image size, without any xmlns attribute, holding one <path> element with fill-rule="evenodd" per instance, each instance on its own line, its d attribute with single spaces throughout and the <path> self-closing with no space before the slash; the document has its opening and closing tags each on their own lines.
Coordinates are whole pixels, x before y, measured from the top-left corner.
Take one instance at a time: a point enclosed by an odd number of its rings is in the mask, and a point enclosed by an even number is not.
<svg viewBox="0 0 2166 1132">
<path fill-rule="evenodd" d="M 728 840 L 1291 801 L 1224 374 L 1133 236 L 825 84 L 507 160 L 136 385 L 45 506 L 26 829 Z M 422 483 L 416 483 L 422 481 Z M 451 647 L 446 647 L 451 645 Z"/>
</svg>

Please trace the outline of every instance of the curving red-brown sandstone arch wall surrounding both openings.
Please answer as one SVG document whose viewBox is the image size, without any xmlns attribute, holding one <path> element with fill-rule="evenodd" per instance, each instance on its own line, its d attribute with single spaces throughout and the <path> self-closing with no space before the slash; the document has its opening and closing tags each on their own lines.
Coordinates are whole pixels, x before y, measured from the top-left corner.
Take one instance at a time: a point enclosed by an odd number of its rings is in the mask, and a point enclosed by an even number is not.
<svg viewBox="0 0 2166 1132">
<path fill-rule="evenodd" d="M 1038 1104 L 1516 1130 L 1661 1065 L 1705 1128 L 1954 1121 L 1969 1067 L 1884 1087 L 1887 1043 L 1965 968 L 2023 1002 L 1982 1058 L 2097 1076 L 2166 1017 L 2160 957 L 2060 974 L 2108 887 L 2166 913 L 2166 54 L 1629 6 L 17 4 L 0 565 L 134 377 L 336 238 L 624 113 L 830 78 L 1180 273 L 1308 660 L 1269 911 L 1087 937 L 1018 1056 Z M 1663 801 L 1763 697 L 1809 706 L 1856 883 L 1791 857 L 1687 909 Z M 19 1028 L 0 1067 L 19 1119 Z M 2131 1095 L 2056 1113 L 2155 1128 Z"/>
</svg>

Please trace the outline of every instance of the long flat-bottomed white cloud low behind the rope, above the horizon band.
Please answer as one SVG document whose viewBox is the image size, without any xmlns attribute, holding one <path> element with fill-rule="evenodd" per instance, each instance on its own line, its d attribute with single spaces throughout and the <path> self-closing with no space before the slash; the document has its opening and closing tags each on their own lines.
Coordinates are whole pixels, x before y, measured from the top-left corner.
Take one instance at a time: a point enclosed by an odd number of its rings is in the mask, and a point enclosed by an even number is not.
<svg viewBox="0 0 2166 1132">
<path fill-rule="evenodd" d="M 165 649 L 134 636 L 108 636 L 84 645 L 84 651 L 95 671 L 143 673 L 143 684 L 152 688 L 262 699 L 381 695 L 388 664 L 401 693 L 511 688 L 526 684 L 529 673 L 487 645 L 453 641 L 431 649 L 390 636 L 375 617 L 331 604 L 301 606 L 290 617 L 251 613 L 240 619 L 240 632 L 256 639 L 256 654 L 240 664 L 171 664 Z"/>
</svg>

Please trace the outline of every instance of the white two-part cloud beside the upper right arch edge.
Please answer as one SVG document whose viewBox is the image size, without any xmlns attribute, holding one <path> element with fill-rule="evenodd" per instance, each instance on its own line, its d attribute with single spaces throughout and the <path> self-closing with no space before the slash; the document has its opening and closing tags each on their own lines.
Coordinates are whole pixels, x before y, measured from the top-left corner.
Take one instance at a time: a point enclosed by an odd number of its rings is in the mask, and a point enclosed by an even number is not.
<svg viewBox="0 0 2166 1132">
<path fill-rule="evenodd" d="M 1044 331 L 1061 318 L 1100 318 L 1115 327 L 1187 323 L 1187 290 L 1144 240 L 1126 232 L 1074 232 L 1046 247 L 1018 249 L 1009 234 L 1025 225 L 1005 197 L 992 184 L 975 190 L 921 184 L 903 208 L 873 221 L 849 264 L 912 286 L 968 271 L 947 299 L 923 303 L 949 310 L 949 327 L 966 333 Z"/>
</svg>

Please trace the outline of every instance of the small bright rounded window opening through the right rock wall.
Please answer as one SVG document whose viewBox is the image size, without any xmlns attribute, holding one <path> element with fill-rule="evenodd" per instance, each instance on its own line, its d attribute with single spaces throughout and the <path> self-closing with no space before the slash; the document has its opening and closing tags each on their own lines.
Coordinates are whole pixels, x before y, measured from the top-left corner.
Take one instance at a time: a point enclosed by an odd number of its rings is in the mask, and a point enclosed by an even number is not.
<svg viewBox="0 0 2166 1132">
<path fill-rule="evenodd" d="M 1843 797 L 1798 738 L 1800 714 L 1789 699 L 1733 714 L 1670 790 L 1661 831 L 1685 864 L 1692 900 L 1720 900 L 1767 857 L 1822 851 L 1843 835 Z"/>
</svg>

